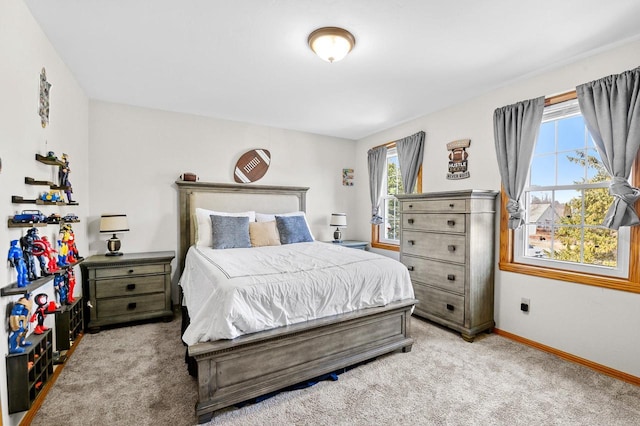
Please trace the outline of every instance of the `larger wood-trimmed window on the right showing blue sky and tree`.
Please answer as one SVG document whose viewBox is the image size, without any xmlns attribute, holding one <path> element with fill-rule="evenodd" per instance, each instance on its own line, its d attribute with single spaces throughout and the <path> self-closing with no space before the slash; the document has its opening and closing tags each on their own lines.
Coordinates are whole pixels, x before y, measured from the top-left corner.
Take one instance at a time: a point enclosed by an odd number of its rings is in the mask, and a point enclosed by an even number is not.
<svg viewBox="0 0 640 426">
<path fill-rule="evenodd" d="M 575 92 L 547 100 L 521 198 L 525 224 L 507 230 L 502 209 L 500 268 L 640 292 L 629 265 L 637 231 L 601 226 L 613 201 L 609 180 Z"/>
</svg>

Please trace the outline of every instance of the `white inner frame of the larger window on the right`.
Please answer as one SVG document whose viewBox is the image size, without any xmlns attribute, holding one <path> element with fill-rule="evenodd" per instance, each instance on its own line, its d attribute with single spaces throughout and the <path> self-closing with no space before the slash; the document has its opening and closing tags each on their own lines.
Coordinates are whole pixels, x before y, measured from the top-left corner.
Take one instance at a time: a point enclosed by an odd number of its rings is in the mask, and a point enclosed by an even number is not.
<svg viewBox="0 0 640 426">
<path fill-rule="evenodd" d="M 580 109 L 577 99 L 565 101 L 549 107 L 545 107 L 542 123 L 555 120 L 560 117 L 570 117 L 579 115 Z M 554 172 L 555 173 L 555 172 Z M 530 174 L 529 174 L 530 176 Z M 558 186 L 530 186 L 529 181 L 525 185 L 521 203 L 525 211 L 528 213 L 528 192 L 544 192 L 544 191 L 560 191 L 560 190 L 580 190 L 585 188 L 608 188 L 609 182 L 598 182 L 595 184 L 579 184 L 579 185 L 558 185 Z M 618 253 L 616 267 L 608 267 L 601 265 L 586 265 L 574 262 L 566 262 L 556 259 L 546 259 L 532 256 L 528 251 L 527 224 L 522 225 L 514 232 L 514 260 L 517 263 L 525 265 L 533 265 L 539 267 L 553 268 L 559 270 L 581 272 L 587 274 L 603 275 L 616 278 L 629 277 L 629 252 L 630 252 L 630 230 L 629 227 L 621 227 L 618 229 Z"/>
</svg>

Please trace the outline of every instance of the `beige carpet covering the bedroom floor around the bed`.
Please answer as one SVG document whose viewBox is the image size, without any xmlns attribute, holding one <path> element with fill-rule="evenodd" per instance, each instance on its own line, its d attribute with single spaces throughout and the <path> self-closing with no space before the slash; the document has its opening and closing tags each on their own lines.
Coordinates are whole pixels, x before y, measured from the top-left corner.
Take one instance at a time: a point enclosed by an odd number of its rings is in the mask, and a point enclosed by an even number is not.
<svg viewBox="0 0 640 426">
<path fill-rule="evenodd" d="M 179 321 L 86 335 L 34 425 L 193 425 Z M 223 410 L 210 425 L 638 425 L 640 387 L 497 335 L 412 320 L 413 351 L 337 382 Z"/>
</svg>

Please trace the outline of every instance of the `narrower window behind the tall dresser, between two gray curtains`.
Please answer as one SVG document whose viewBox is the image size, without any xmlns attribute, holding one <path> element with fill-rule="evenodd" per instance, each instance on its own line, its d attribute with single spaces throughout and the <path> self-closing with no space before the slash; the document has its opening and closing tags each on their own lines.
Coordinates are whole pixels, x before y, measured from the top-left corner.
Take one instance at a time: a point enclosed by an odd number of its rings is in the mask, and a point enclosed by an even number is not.
<svg viewBox="0 0 640 426">
<path fill-rule="evenodd" d="M 395 144 L 387 146 L 387 169 L 382 187 L 380 216 L 384 222 L 372 225 L 371 245 L 376 248 L 399 251 L 400 247 L 400 203 L 396 194 L 403 194 L 402 176 Z M 418 172 L 417 192 L 422 192 L 422 166 Z"/>
</svg>

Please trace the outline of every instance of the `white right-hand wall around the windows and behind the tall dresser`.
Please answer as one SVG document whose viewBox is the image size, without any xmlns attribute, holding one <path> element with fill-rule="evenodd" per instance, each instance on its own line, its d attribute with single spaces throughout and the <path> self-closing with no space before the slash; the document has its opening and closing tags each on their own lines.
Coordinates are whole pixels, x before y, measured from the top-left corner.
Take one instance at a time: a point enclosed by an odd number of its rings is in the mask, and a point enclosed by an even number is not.
<svg viewBox="0 0 640 426">
<path fill-rule="evenodd" d="M 635 41 L 555 71 L 523 79 L 358 141 L 356 167 L 363 169 L 366 166 L 369 148 L 424 130 L 424 192 L 471 188 L 499 190 L 500 175 L 493 138 L 493 111 L 496 108 L 566 92 L 578 84 L 639 65 L 640 42 Z M 446 144 L 462 138 L 471 139 L 468 149 L 471 177 L 447 180 Z M 354 218 L 359 223 L 356 237 L 366 238 L 370 233 L 369 206 L 368 193 L 358 192 L 357 218 Z M 393 253 L 392 256 L 397 255 Z M 640 294 L 501 272 L 497 259 L 496 271 L 497 328 L 640 377 Z M 520 311 L 522 297 L 531 300 L 528 315 Z"/>
</svg>

